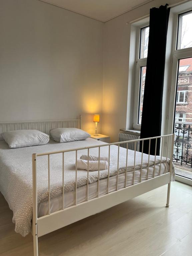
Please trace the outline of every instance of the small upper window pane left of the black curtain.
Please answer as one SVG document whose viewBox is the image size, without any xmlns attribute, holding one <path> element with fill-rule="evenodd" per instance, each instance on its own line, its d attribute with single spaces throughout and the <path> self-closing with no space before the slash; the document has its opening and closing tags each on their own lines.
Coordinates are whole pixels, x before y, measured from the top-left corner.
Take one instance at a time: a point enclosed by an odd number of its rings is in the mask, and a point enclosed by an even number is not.
<svg viewBox="0 0 192 256">
<path fill-rule="evenodd" d="M 149 41 L 149 26 L 141 29 L 140 54 L 139 54 L 140 59 L 147 58 L 148 41 Z"/>
</svg>

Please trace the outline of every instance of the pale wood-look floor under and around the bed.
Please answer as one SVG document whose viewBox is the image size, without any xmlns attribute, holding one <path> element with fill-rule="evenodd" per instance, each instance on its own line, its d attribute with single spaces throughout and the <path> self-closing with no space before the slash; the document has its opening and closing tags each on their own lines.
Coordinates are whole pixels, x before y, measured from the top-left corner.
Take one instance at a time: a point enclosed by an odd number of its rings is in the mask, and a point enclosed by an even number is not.
<svg viewBox="0 0 192 256">
<path fill-rule="evenodd" d="M 192 187 L 172 182 L 39 238 L 47 256 L 191 256 Z M 32 235 L 14 232 L 12 211 L 0 194 L 0 255 L 32 256 Z"/>
</svg>

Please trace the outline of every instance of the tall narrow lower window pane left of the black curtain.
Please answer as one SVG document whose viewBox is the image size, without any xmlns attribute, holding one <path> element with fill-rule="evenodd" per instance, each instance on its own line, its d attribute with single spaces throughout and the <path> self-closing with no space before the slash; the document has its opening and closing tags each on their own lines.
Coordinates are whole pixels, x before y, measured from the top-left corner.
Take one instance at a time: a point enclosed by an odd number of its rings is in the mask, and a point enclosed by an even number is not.
<svg viewBox="0 0 192 256">
<path fill-rule="evenodd" d="M 146 67 L 141 67 L 140 71 L 140 89 L 139 89 L 139 111 L 138 111 L 138 124 L 141 124 L 142 111 L 143 111 L 143 95 L 145 88 L 145 74 Z"/>
</svg>

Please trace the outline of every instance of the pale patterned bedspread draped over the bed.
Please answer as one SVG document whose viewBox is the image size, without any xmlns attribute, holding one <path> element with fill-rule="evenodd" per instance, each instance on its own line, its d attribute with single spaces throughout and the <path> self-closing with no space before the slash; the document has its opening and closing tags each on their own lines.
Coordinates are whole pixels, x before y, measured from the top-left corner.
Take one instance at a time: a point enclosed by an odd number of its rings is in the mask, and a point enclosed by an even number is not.
<svg viewBox="0 0 192 256">
<path fill-rule="evenodd" d="M 15 223 L 15 231 L 22 236 L 26 236 L 31 229 L 31 219 L 33 215 L 33 194 L 32 194 L 32 154 L 45 153 L 52 151 L 70 150 L 78 147 L 87 147 L 94 145 L 106 145 L 101 147 L 100 155 L 108 156 L 109 146 L 107 143 L 88 138 L 83 141 L 73 141 L 67 143 L 58 143 L 50 140 L 46 145 L 32 146 L 25 148 L 10 149 L 4 142 L 0 142 L 0 191 L 13 211 L 13 222 Z M 98 156 L 98 148 L 90 149 L 90 155 Z M 79 150 L 77 157 L 87 154 L 87 150 Z M 109 176 L 117 175 L 117 156 L 118 147 L 110 146 L 110 166 Z M 64 193 L 66 197 L 73 194 L 75 190 L 75 151 L 70 151 L 64 154 Z M 141 153 L 136 152 L 135 158 L 135 173 L 141 169 Z M 162 164 L 166 161 L 162 158 Z M 149 166 L 153 168 L 154 156 L 150 155 Z M 169 163 L 169 159 L 167 161 Z M 156 164 L 160 163 L 160 157 L 156 157 Z M 37 158 L 37 191 L 38 205 L 48 200 L 48 158 L 41 156 Z M 126 169 L 126 149 L 120 147 L 119 153 L 119 177 L 121 174 L 128 172 L 128 176 L 133 172 L 134 166 L 134 151 L 128 150 L 128 162 Z M 143 154 L 142 168 L 148 166 L 148 155 Z M 174 172 L 173 172 L 174 173 Z M 89 187 L 94 187 L 94 183 L 98 178 L 106 182 L 108 170 L 89 172 Z M 123 176 L 122 176 L 123 177 Z M 111 179 L 111 178 L 110 178 Z M 115 179 L 115 178 L 114 178 Z M 77 173 L 77 188 L 78 191 L 86 190 L 87 171 L 78 170 Z M 93 184 L 93 185 L 92 185 Z M 106 188 L 105 188 L 106 189 Z M 111 187 L 111 189 L 113 189 Z M 58 198 L 62 195 L 62 154 L 50 155 L 50 198 Z M 101 189 L 102 192 L 102 189 Z M 68 194 L 69 193 L 69 194 Z M 80 192 L 78 192 L 79 194 Z M 83 192 L 84 193 L 84 192 Z M 90 190 L 90 195 L 93 193 Z M 78 195 L 78 200 L 83 200 Z M 55 199 L 57 200 L 57 199 Z M 71 200 L 71 199 L 70 199 Z M 68 204 L 70 205 L 71 202 Z M 80 202 L 79 201 L 79 202 Z M 67 202 L 67 200 L 66 200 Z M 43 205 L 43 204 L 42 204 Z M 41 207 L 40 207 L 41 208 Z M 39 209 L 40 209 L 39 208 Z"/>
</svg>

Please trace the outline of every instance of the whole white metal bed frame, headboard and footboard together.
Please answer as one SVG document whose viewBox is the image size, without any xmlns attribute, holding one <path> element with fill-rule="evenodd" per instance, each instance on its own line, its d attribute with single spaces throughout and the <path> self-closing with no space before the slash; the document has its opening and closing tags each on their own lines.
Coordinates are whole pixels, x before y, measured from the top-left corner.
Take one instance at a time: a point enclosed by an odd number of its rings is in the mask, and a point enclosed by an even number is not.
<svg viewBox="0 0 192 256">
<path fill-rule="evenodd" d="M 13 123 L 0 123 L 0 127 L 3 126 L 3 131 L 5 130 L 12 130 L 12 126 L 16 127 L 17 130 L 20 127 L 24 129 L 32 129 L 32 127 L 36 127 L 38 130 L 41 130 L 47 134 L 49 134 L 46 130 L 46 125 L 49 128 L 52 127 L 54 123 L 55 127 L 82 127 L 82 118 L 80 116 L 79 119 L 71 119 L 71 120 L 61 120 L 61 121 L 32 121 L 32 122 L 13 122 Z M 41 127 L 40 127 L 41 126 Z M 6 129 L 5 129 L 6 127 Z M 55 128 L 53 127 L 53 128 Z M 155 177 L 155 164 L 154 164 L 154 171 L 153 171 L 153 178 L 148 179 L 149 175 L 149 159 L 148 157 L 148 167 L 147 167 L 147 180 L 142 181 L 142 161 L 143 161 L 143 143 L 145 140 L 149 140 L 149 155 L 150 155 L 150 145 L 151 140 L 156 140 L 155 145 L 155 159 L 156 159 L 156 146 L 157 146 L 157 139 L 161 140 L 161 144 L 165 142 L 167 143 L 167 150 L 166 150 L 166 166 L 167 166 L 167 158 L 168 158 L 168 147 L 170 144 L 170 162 L 169 162 L 169 171 L 165 174 L 161 174 L 161 161 L 162 161 L 162 148 L 161 147 L 161 158 L 160 158 L 160 170 L 159 175 Z M 134 166 L 133 166 L 133 182 L 132 185 L 127 186 L 127 172 L 125 172 L 125 186 L 122 189 L 118 189 L 118 176 L 119 176 L 119 147 L 121 142 L 110 143 L 107 146 L 109 147 L 108 151 L 108 177 L 107 177 L 107 194 L 100 196 L 99 195 L 99 179 L 97 181 L 97 197 L 93 199 L 89 199 L 89 160 L 88 160 L 88 171 L 87 171 L 87 200 L 82 203 L 77 204 L 77 164 L 76 164 L 76 181 L 75 181 L 75 205 L 70 206 L 68 208 L 64 208 L 64 154 L 66 152 L 75 151 L 75 162 L 77 163 L 77 151 L 78 150 L 87 150 L 87 155 L 89 159 L 89 150 L 91 148 L 98 148 L 98 177 L 100 172 L 100 148 L 106 146 L 106 144 L 101 144 L 97 146 L 89 146 L 83 148 L 74 148 L 70 150 L 61 150 L 61 151 L 54 151 L 54 152 L 47 152 L 47 153 L 40 153 L 40 154 L 32 154 L 32 177 L 33 177 L 33 219 L 32 219 L 32 234 L 33 234 L 33 246 L 34 246 L 34 256 L 38 256 L 38 237 L 48 234 L 52 231 L 65 227 L 71 223 L 74 223 L 78 220 L 84 219 L 88 216 L 94 215 L 101 211 L 104 211 L 110 207 L 113 207 L 117 204 L 125 202 L 131 198 L 144 194 L 148 191 L 151 191 L 155 188 L 168 184 L 168 191 L 167 191 L 167 203 L 166 207 L 169 207 L 169 198 L 170 198 L 170 185 L 171 185 L 171 172 L 172 172 L 172 156 L 173 156 L 173 146 L 174 146 L 174 134 L 151 137 L 146 139 L 137 139 L 132 141 L 125 141 L 124 143 L 128 145 L 128 143 L 134 143 Z M 135 183 L 135 159 L 136 159 L 136 145 L 137 143 L 142 143 L 142 152 L 141 152 L 141 172 L 140 172 L 140 182 Z M 109 192 L 109 171 L 110 171 L 110 146 L 117 145 L 118 146 L 118 158 L 117 158 L 117 185 L 116 191 Z M 127 160 L 128 160 L 128 146 L 126 151 L 126 169 L 127 169 Z M 50 213 L 50 162 L 49 158 L 50 155 L 53 154 L 61 154 L 62 153 L 62 182 L 63 182 L 63 193 L 62 193 L 62 210 Z M 37 216 L 37 159 L 41 156 L 46 156 L 48 160 L 48 214 L 42 217 Z"/>
</svg>

